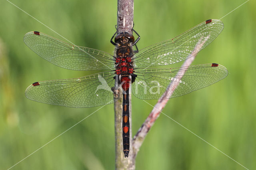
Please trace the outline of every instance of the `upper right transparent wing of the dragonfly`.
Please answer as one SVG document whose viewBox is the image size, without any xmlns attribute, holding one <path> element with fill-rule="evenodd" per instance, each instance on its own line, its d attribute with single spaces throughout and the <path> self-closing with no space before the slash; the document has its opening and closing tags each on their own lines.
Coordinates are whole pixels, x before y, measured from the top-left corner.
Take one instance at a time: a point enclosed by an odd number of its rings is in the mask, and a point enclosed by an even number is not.
<svg viewBox="0 0 256 170">
<path fill-rule="evenodd" d="M 133 57 L 135 67 L 177 63 L 196 55 L 222 32 L 220 20 L 207 20 L 179 36 L 141 49 Z M 197 44 L 203 44 L 198 46 Z M 193 55 L 191 55 L 193 51 Z"/>
</svg>

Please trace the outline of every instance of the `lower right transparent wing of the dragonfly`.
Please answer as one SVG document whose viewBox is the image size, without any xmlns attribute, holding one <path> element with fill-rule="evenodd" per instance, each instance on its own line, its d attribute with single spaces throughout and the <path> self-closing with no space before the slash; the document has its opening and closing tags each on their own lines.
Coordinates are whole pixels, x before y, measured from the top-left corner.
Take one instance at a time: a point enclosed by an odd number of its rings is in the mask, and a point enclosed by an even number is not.
<svg viewBox="0 0 256 170">
<path fill-rule="evenodd" d="M 185 71 L 182 73 L 182 71 Z M 132 93 L 139 99 L 166 99 L 186 95 L 224 79 L 228 70 L 215 63 L 172 69 L 136 69 Z M 183 76 L 182 76 L 183 75 Z M 182 77 L 182 78 L 180 78 Z M 171 84 L 170 84 L 171 83 Z M 162 97 L 170 84 L 170 91 Z"/>
</svg>

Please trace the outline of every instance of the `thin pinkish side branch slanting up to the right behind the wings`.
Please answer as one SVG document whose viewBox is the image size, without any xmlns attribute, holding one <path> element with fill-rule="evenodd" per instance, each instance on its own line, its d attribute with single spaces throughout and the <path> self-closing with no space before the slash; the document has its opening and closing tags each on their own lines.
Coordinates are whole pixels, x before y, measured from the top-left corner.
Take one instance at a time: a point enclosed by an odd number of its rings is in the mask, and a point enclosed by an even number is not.
<svg viewBox="0 0 256 170">
<path fill-rule="evenodd" d="M 198 49 L 198 48 L 200 49 L 204 45 L 206 40 L 204 40 L 202 42 L 202 38 L 201 38 L 198 41 L 198 44 L 194 48 L 194 51 L 192 51 L 192 53 L 187 57 L 188 59 L 186 59 L 184 61 L 184 63 L 182 64 L 182 69 L 180 69 L 180 71 L 178 71 L 178 73 L 175 77 L 176 79 L 181 79 L 182 78 L 182 76 L 184 75 L 184 73 L 187 70 L 187 69 L 184 69 L 184 67 L 188 68 L 191 65 L 191 63 L 194 61 L 194 59 L 196 57 L 196 51 L 198 51 L 196 49 Z M 132 145 L 131 145 L 133 147 L 133 155 L 132 156 L 134 158 L 138 154 L 140 146 L 142 145 L 142 142 L 144 141 L 146 135 L 148 134 L 148 131 L 154 125 L 156 119 L 159 117 L 162 109 L 165 107 L 166 103 L 171 98 L 172 93 L 175 91 L 175 89 L 178 87 L 178 85 L 179 85 L 178 81 L 172 81 L 169 84 L 169 86 L 166 88 L 166 91 L 164 92 L 162 97 L 158 100 L 158 102 L 156 103 L 156 105 L 152 109 L 151 113 L 148 115 L 147 119 L 144 121 L 144 123 L 142 124 L 142 126 L 138 130 L 137 134 L 134 136 L 134 138 L 132 140 Z"/>
</svg>

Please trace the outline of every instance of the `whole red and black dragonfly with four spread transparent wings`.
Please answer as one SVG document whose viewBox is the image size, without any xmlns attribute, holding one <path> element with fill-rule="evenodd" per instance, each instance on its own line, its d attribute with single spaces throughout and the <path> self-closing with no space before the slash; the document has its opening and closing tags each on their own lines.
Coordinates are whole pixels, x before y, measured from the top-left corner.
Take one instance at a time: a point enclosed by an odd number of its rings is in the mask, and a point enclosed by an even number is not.
<svg viewBox="0 0 256 170">
<path fill-rule="evenodd" d="M 96 107 L 114 103 L 121 96 L 122 136 L 124 157 L 130 148 L 129 94 L 139 99 L 166 99 L 188 94 L 224 79 L 228 70 L 210 63 L 189 67 L 158 68 L 184 61 L 209 45 L 222 32 L 220 20 L 206 20 L 179 36 L 155 43 L 141 50 L 128 32 L 114 34 L 114 55 L 88 47 L 69 44 L 43 34 L 28 32 L 25 44 L 50 63 L 71 70 L 101 70 L 101 72 L 73 79 L 38 81 L 25 92 L 28 99 L 65 107 Z M 199 45 L 198 45 L 199 44 Z M 138 49 L 138 48 L 137 48 Z M 181 71 L 186 71 L 182 73 Z M 179 77 L 177 77 L 177 75 Z M 170 83 L 176 83 L 171 95 L 163 95 Z M 113 98 L 112 87 L 121 95 Z"/>
</svg>

